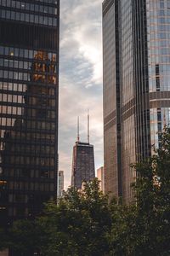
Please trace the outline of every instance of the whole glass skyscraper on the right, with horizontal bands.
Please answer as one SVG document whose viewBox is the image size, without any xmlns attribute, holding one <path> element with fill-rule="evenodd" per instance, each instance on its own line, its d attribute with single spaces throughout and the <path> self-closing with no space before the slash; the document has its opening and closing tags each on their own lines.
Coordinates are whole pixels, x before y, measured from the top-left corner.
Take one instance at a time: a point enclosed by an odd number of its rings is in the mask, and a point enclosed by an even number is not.
<svg viewBox="0 0 170 256">
<path fill-rule="evenodd" d="M 170 1 L 103 3 L 105 191 L 133 197 L 129 165 L 170 123 Z"/>
</svg>

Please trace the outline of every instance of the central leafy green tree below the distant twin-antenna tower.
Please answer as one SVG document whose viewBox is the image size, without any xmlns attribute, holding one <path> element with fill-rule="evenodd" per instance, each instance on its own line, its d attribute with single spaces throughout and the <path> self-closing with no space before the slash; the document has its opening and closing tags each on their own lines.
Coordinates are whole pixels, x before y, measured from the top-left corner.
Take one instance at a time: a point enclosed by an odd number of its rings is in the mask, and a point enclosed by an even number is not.
<svg viewBox="0 0 170 256">
<path fill-rule="evenodd" d="M 82 191 L 68 189 L 58 205 L 48 203 L 37 222 L 46 233 L 43 255 L 103 256 L 108 252 L 111 213 L 97 179 L 84 183 Z"/>
</svg>

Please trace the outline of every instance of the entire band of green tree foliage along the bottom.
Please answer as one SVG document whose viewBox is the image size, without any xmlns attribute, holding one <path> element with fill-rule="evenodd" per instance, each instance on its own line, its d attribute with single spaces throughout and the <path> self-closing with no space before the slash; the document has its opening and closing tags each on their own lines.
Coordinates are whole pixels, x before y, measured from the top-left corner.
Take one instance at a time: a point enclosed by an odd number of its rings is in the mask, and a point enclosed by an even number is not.
<svg viewBox="0 0 170 256">
<path fill-rule="evenodd" d="M 109 202 L 94 179 L 81 191 L 68 189 L 58 204 L 48 202 L 36 220 L 14 223 L 10 247 L 29 256 L 170 255 L 170 128 L 156 154 L 132 167 L 130 205 Z"/>
</svg>

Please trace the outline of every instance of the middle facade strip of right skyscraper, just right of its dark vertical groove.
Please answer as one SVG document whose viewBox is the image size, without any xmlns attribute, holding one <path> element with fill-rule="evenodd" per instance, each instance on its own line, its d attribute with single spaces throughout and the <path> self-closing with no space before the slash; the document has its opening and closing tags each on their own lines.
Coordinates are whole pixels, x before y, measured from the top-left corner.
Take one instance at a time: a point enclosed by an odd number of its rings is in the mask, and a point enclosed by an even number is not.
<svg viewBox="0 0 170 256">
<path fill-rule="evenodd" d="M 132 0 L 120 1 L 120 20 L 122 24 L 121 44 L 121 106 L 122 106 L 122 195 L 132 196 L 129 183 L 133 172 L 129 165 L 136 160 L 135 151 L 135 113 L 133 88 L 133 19 Z"/>
</svg>

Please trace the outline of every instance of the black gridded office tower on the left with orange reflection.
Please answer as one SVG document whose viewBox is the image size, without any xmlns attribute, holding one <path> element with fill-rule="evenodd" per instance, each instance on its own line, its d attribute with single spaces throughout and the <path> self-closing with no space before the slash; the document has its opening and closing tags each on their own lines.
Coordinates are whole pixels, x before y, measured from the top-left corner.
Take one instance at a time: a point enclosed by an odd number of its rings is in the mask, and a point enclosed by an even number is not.
<svg viewBox="0 0 170 256">
<path fill-rule="evenodd" d="M 57 195 L 59 1 L 0 1 L 0 220 Z"/>
</svg>

